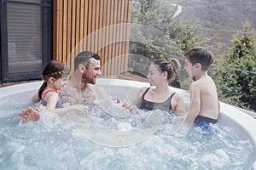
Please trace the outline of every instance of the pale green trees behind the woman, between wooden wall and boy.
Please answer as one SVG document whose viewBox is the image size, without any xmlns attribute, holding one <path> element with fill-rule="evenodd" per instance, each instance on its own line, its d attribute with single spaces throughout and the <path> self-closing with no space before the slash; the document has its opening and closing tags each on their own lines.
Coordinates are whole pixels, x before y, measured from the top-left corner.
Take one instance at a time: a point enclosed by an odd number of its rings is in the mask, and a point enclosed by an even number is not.
<svg viewBox="0 0 256 170">
<path fill-rule="evenodd" d="M 176 58 L 182 67 L 179 77 L 172 86 L 180 88 L 180 81 L 188 82 L 182 88 L 189 88 L 190 81 L 186 80 L 187 73 L 183 70 L 183 54 L 189 48 L 196 45 L 203 45 L 207 39 L 201 41 L 198 27 L 187 22 L 181 24 L 173 14 L 177 11 L 177 6 L 166 3 L 155 3 L 154 0 L 137 0 L 132 6 L 132 23 L 142 24 L 143 29 L 131 28 L 129 68 L 131 71 L 147 75 L 148 62 L 135 61 L 136 56 L 143 56 L 145 60 L 159 58 Z M 132 26 L 131 26 L 132 27 Z M 152 31 L 154 28 L 157 31 Z M 138 41 L 136 41 L 138 40 Z M 149 63 L 150 64 L 150 63 Z M 181 80 L 180 80 L 181 79 Z"/>
</svg>

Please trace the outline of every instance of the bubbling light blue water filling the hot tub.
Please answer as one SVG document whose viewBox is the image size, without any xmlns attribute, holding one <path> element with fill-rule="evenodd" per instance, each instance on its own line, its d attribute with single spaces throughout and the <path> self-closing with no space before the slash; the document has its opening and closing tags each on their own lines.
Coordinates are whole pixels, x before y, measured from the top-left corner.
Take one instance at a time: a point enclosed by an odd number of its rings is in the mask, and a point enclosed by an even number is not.
<svg viewBox="0 0 256 170">
<path fill-rule="evenodd" d="M 38 122 L 18 122 L 17 112 L 27 105 L 11 100 L 0 103 L 0 169 L 245 170 L 253 165 L 251 144 L 221 122 L 211 131 L 183 126 L 171 134 L 170 115 L 147 139 L 131 146 L 108 147 L 86 139 L 68 116 L 60 118 L 45 111 Z M 99 115 L 97 109 L 89 116 L 105 128 L 134 128 L 148 117 L 138 111 L 124 122 L 120 117 Z"/>
</svg>

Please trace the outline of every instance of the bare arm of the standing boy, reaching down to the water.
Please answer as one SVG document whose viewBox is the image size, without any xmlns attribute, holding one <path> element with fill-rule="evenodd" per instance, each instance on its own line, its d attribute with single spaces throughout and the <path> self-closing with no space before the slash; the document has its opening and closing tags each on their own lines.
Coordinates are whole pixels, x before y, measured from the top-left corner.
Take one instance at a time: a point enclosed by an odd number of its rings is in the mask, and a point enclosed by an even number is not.
<svg viewBox="0 0 256 170">
<path fill-rule="evenodd" d="M 201 98 L 200 98 L 200 88 L 195 83 L 192 82 L 189 86 L 190 92 L 190 108 L 189 114 L 186 118 L 186 123 L 192 124 L 195 121 L 195 117 L 200 113 L 201 108 Z"/>
</svg>

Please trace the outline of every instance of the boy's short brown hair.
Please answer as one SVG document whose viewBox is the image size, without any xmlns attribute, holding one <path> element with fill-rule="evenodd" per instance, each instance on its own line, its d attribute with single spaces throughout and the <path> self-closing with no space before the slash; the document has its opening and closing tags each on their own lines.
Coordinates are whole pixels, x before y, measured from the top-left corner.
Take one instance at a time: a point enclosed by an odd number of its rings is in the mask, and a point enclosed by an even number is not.
<svg viewBox="0 0 256 170">
<path fill-rule="evenodd" d="M 185 58 L 189 59 L 192 65 L 200 63 L 203 71 L 207 71 L 210 65 L 212 65 L 213 57 L 212 52 L 203 47 L 190 48 L 185 54 Z"/>
</svg>

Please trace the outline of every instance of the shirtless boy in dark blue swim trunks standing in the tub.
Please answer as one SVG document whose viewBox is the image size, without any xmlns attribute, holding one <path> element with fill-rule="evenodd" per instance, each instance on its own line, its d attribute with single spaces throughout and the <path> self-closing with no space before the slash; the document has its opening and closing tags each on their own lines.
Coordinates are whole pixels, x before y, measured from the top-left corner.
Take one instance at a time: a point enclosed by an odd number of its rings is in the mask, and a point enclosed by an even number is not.
<svg viewBox="0 0 256 170">
<path fill-rule="evenodd" d="M 218 94 L 212 77 L 207 71 L 212 65 L 213 54 L 207 48 L 195 47 L 189 49 L 185 56 L 185 70 L 189 77 L 195 77 L 195 82 L 189 86 L 190 108 L 186 118 L 187 123 L 195 127 L 208 128 L 218 122 Z"/>
</svg>

